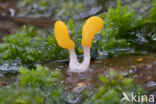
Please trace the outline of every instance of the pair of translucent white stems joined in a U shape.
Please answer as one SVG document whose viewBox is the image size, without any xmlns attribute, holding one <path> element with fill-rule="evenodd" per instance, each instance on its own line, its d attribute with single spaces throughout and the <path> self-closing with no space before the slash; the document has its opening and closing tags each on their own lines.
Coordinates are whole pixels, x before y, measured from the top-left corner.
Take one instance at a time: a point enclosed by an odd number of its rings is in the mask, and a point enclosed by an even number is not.
<svg viewBox="0 0 156 104">
<path fill-rule="evenodd" d="M 83 62 L 79 63 L 77 60 L 77 56 L 75 50 L 69 50 L 70 54 L 70 62 L 69 69 L 72 72 L 84 72 L 88 69 L 90 64 L 90 47 L 83 47 Z"/>
</svg>

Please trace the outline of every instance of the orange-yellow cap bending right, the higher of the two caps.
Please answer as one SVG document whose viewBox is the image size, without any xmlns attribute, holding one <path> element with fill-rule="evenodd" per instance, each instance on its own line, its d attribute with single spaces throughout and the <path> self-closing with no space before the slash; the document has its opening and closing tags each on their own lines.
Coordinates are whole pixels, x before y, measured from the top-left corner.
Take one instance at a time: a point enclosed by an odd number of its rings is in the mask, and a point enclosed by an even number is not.
<svg viewBox="0 0 156 104">
<path fill-rule="evenodd" d="M 104 21 L 97 16 L 90 17 L 82 28 L 82 46 L 91 46 L 92 40 L 97 32 L 104 26 Z"/>
</svg>

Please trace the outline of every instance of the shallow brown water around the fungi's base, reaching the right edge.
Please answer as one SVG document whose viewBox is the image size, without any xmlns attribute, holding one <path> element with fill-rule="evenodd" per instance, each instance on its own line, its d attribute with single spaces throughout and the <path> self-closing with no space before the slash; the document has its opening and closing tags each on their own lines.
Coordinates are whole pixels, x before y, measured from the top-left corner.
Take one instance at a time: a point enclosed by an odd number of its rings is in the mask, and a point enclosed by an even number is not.
<svg viewBox="0 0 156 104">
<path fill-rule="evenodd" d="M 84 89 L 93 89 L 101 82 L 98 75 L 108 76 L 110 69 L 118 73 L 124 73 L 125 77 L 134 79 L 149 92 L 156 91 L 156 54 L 124 56 L 121 58 L 109 58 L 91 61 L 90 69 L 83 73 L 68 72 L 68 62 L 47 64 L 51 70 L 62 69 L 65 77 L 65 85 L 69 91 L 80 92 Z"/>
</svg>

